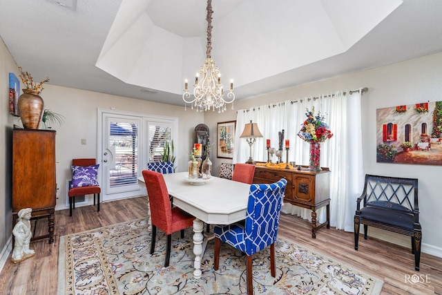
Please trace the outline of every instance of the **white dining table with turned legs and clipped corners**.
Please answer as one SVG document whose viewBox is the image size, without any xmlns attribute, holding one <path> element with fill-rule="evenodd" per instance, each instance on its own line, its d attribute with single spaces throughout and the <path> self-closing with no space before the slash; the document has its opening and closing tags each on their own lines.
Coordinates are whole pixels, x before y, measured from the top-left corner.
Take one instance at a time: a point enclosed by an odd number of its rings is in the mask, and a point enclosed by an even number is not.
<svg viewBox="0 0 442 295">
<path fill-rule="evenodd" d="M 201 258 L 208 236 L 202 234 L 203 222 L 210 225 L 230 225 L 247 215 L 250 184 L 212 177 L 191 182 L 187 172 L 164 174 L 173 205 L 195 216 L 193 221 L 193 276 L 201 278 Z M 144 178 L 138 178 L 144 185 Z M 150 215 L 150 211 L 149 211 Z M 149 220 L 150 222 L 150 220 Z"/>
</svg>

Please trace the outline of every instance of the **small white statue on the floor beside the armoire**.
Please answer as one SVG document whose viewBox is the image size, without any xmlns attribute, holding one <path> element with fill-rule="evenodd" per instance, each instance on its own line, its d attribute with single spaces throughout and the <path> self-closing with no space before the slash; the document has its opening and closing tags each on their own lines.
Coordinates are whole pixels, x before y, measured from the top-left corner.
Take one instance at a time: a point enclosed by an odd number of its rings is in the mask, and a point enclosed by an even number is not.
<svg viewBox="0 0 442 295">
<path fill-rule="evenodd" d="M 30 218 L 32 209 L 25 208 L 19 211 L 19 220 L 12 234 L 15 237 L 14 250 L 12 251 L 12 262 L 19 263 L 35 255 L 35 251 L 29 249 L 30 238 L 32 238 L 32 231 L 30 230 Z"/>
</svg>

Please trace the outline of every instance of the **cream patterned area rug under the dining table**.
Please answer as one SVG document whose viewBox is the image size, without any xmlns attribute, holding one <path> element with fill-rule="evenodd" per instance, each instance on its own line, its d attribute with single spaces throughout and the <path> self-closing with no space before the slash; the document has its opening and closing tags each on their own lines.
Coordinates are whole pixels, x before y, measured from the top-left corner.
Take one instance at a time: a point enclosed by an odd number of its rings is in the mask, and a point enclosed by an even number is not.
<svg viewBox="0 0 442 295">
<path fill-rule="evenodd" d="M 164 267 L 166 236 L 157 231 L 149 254 L 147 219 L 132 220 L 60 238 L 57 294 L 247 294 L 244 254 L 221 245 L 213 269 L 213 240 L 193 278 L 193 231 L 172 236 L 171 263 Z M 269 249 L 253 255 L 254 294 L 380 294 L 383 281 L 336 260 L 278 238 L 276 277 Z"/>
</svg>

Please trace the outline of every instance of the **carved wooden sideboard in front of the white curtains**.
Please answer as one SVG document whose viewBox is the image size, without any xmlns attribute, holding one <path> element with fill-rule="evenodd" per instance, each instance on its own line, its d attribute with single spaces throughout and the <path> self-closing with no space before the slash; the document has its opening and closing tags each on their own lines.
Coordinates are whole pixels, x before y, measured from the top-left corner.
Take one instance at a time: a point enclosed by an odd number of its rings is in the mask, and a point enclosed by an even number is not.
<svg viewBox="0 0 442 295">
<path fill-rule="evenodd" d="M 278 169 L 256 166 L 253 183 L 272 183 L 281 178 L 287 180 L 284 202 L 311 209 L 311 237 L 316 238 L 316 230 L 323 226 L 330 227 L 330 171 L 309 171 L 295 169 Z M 327 220 L 318 225 L 316 209 L 327 206 Z"/>
</svg>

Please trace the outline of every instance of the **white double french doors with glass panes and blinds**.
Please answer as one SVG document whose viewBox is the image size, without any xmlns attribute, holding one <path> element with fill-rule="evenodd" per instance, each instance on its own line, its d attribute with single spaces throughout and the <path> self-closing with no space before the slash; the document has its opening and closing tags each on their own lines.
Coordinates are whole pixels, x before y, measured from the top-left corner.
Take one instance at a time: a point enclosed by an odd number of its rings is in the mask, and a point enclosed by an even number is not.
<svg viewBox="0 0 442 295">
<path fill-rule="evenodd" d="M 178 150 L 178 119 L 160 115 L 98 109 L 97 161 L 102 200 L 146 194 L 137 178 L 147 162 L 161 161 L 164 146 Z M 176 163 L 178 159 L 176 158 Z"/>
</svg>

